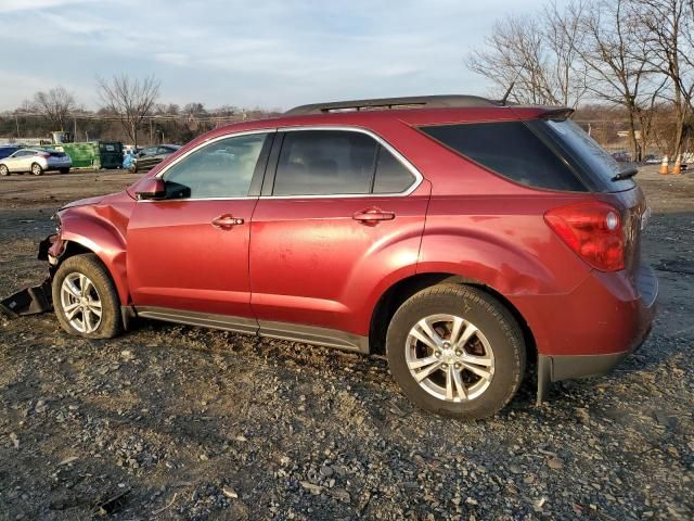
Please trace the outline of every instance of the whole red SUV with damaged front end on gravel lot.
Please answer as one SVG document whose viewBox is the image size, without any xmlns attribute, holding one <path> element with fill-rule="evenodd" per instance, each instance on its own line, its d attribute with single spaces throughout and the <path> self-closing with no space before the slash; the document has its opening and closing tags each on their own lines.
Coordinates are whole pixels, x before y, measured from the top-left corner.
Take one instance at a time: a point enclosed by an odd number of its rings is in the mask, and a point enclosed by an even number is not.
<svg viewBox="0 0 694 521">
<path fill-rule="evenodd" d="M 640 188 L 567 117 L 476 97 L 306 105 L 215 129 L 42 243 L 57 319 L 385 347 L 416 405 L 481 418 L 639 346 Z"/>
</svg>

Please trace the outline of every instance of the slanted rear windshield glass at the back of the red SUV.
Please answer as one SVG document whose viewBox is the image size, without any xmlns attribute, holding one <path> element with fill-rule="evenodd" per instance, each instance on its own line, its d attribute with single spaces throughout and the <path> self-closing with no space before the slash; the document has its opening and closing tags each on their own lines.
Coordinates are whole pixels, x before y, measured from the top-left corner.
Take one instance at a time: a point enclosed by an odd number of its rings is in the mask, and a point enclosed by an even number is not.
<svg viewBox="0 0 694 521">
<path fill-rule="evenodd" d="M 612 179 L 625 171 L 633 170 L 629 163 L 617 163 L 600 144 L 581 127 L 570 119 L 548 120 L 544 125 L 550 129 L 560 145 L 574 160 L 584 174 L 595 182 L 601 191 L 617 192 L 634 187 L 632 179 Z"/>
</svg>

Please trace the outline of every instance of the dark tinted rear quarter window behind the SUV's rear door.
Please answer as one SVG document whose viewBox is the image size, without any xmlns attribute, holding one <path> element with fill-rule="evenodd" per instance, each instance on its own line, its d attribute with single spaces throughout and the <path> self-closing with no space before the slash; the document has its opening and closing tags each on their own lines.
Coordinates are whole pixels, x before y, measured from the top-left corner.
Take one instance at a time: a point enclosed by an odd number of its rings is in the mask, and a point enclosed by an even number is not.
<svg viewBox="0 0 694 521">
<path fill-rule="evenodd" d="M 571 169 L 523 122 L 421 127 L 459 154 L 520 185 L 586 191 Z"/>
</svg>

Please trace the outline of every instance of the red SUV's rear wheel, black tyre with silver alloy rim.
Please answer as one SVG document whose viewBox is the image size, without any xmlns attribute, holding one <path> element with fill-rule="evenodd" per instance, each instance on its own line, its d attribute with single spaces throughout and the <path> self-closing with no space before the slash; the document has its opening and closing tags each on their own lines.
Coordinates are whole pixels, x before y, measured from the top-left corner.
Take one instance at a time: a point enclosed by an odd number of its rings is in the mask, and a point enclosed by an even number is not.
<svg viewBox="0 0 694 521">
<path fill-rule="evenodd" d="M 386 339 L 388 364 L 419 407 L 462 419 L 500 410 L 525 372 L 523 333 L 493 296 L 441 284 L 396 312 Z"/>
</svg>

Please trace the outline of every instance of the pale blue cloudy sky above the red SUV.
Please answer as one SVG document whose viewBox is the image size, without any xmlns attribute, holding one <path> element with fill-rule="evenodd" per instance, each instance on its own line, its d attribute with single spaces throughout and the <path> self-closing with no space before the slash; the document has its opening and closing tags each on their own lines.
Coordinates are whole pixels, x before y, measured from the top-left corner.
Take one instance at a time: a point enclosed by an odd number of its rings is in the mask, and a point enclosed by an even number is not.
<svg viewBox="0 0 694 521">
<path fill-rule="evenodd" d="M 156 75 L 162 102 L 287 109 L 317 101 L 484 94 L 464 66 L 496 18 L 542 0 L 0 0 L 0 111 L 62 85 Z M 562 2 L 560 2 L 562 3 Z"/>
</svg>

